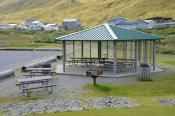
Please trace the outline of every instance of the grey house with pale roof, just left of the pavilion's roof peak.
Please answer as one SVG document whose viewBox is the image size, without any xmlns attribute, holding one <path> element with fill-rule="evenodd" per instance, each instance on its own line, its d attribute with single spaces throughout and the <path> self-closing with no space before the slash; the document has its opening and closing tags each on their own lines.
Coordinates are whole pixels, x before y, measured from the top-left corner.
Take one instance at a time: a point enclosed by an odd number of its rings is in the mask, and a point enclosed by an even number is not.
<svg viewBox="0 0 175 116">
<path fill-rule="evenodd" d="M 64 19 L 63 20 L 63 29 L 64 30 L 79 30 L 81 29 L 80 19 Z"/>
</svg>

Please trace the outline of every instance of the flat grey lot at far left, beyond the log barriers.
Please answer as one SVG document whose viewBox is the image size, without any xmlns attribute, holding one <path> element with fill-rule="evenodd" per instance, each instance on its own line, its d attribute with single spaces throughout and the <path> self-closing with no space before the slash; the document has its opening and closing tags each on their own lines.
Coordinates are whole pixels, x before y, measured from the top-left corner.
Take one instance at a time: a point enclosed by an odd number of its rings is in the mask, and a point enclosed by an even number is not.
<svg viewBox="0 0 175 116">
<path fill-rule="evenodd" d="M 0 51 L 0 71 L 16 69 L 58 54 L 56 51 Z"/>
</svg>

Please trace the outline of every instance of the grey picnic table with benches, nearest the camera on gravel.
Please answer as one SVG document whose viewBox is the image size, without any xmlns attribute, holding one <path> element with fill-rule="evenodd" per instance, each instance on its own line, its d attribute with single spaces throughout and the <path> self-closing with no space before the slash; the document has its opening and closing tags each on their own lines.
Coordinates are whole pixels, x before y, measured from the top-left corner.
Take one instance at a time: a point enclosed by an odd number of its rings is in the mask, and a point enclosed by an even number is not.
<svg viewBox="0 0 175 116">
<path fill-rule="evenodd" d="M 16 85 L 19 86 L 20 92 L 25 95 L 29 90 L 43 88 L 44 91 L 48 91 L 48 88 L 56 86 L 55 84 L 49 84 L 49 81 L 52 80 L 52 76 L 39 76 L 35 78 L 22 78 L 17 79 Z M 39 84 L 39 86 L 29 87 L 29 85 Z"/>
</svg>

